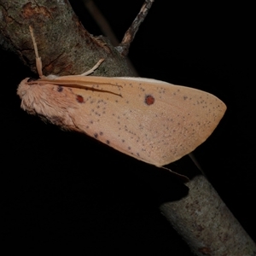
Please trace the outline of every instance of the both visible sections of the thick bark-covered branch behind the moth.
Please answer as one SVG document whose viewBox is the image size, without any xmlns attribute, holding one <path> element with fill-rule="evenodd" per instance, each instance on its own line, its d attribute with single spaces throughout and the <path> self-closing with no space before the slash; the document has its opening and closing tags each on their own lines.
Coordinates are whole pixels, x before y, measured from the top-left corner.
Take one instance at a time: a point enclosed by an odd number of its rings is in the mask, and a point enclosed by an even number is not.
<svg viewBox="0 0 256 256">
<path fill-rule="evenodd" d="M 95 38 L 84 29 L 70 4 L 63 1 L 0 1 L 0 44 L 15 51 L 36 73 L 28 26 L 38 43 L 45 75 L 78 74 L 106 61 L 99 76 L 131 76 L 125 58 L 106 38 Z M 197 255 L 255 255 L 256 247 L 205 177 L 189 183 L 189 195 L 168 202 L 160 210 Z"/>
</svg>

